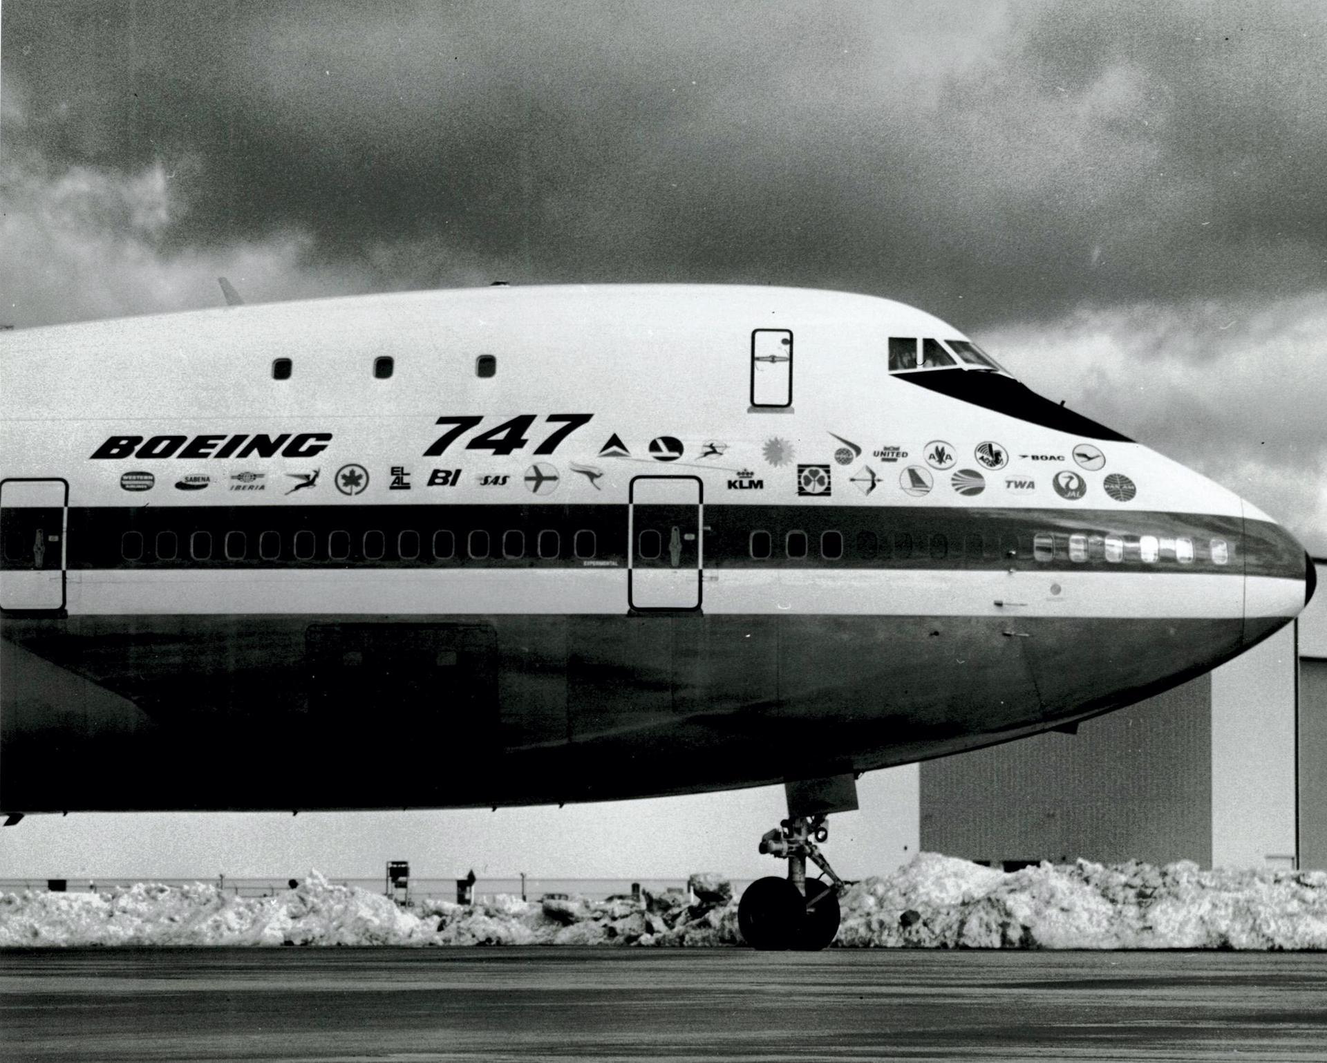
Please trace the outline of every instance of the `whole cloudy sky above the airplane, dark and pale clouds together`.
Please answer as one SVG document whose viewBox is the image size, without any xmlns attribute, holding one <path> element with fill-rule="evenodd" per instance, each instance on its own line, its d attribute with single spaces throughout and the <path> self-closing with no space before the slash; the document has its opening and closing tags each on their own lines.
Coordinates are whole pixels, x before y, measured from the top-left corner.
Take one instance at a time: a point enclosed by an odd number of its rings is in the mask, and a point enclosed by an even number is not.
<svg viewBox="0 0 1327 1063">
<path fill-rule="evenodd" d="M 0 37 L 16 326 L 219 273 L 882 295 L 1327 555 L 1318 0 L 7 0 Z"/>
</svg>

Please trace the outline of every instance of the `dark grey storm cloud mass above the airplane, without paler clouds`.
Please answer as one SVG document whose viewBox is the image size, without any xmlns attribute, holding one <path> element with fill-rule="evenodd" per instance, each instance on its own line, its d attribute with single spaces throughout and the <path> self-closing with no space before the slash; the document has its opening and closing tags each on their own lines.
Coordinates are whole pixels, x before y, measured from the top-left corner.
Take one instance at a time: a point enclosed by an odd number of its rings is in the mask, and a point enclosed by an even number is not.
<svg viewBox="0 0 1327 1063">
<path fill-rule="evenodd" d="M 969 326 L 1311 289 L 1327 11 L 8 3 L 52 167 L 182 199 L 173 248 L 297 231 L 377 287 L 751 280 Z"/>
</svg>

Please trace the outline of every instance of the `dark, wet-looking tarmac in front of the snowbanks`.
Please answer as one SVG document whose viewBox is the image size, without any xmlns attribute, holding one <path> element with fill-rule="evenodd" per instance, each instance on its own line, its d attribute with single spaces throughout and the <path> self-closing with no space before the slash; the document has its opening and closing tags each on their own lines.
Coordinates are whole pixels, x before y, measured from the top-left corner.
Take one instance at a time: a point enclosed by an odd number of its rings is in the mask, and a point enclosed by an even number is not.
<svg viewBox="0 0 1327 1063">
<path fill-rule="evenodd" d="M 0 1058 L 1327 1059 L 1327 956 L 24 950 Z"/>
</svg>

